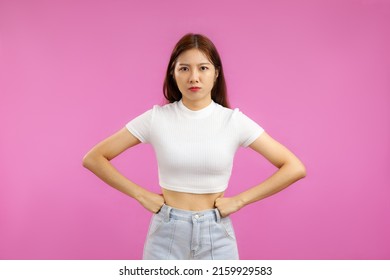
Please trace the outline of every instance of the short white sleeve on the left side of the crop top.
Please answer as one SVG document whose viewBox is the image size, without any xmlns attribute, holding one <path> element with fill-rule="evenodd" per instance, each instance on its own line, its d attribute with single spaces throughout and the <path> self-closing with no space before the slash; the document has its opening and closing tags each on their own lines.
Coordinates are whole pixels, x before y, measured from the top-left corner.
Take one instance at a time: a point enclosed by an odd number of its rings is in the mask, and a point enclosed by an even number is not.
<svg viewBox="0 0 390 280">
<path fill-rule="evenodd" d="M 150 143 L 153 109 L 146 111 L 126 124 L 126 128 L 142 143 Z"/>
</svg>

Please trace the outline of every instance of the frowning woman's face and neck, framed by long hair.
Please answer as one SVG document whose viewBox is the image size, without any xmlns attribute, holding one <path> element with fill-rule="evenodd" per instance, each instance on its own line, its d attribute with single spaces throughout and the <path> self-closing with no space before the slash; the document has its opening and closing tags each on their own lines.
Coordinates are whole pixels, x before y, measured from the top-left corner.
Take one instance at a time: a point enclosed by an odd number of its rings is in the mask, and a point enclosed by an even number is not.
<svg viewBox="0 0 390 280">
<path fill-rule="evenodd" d="M 218 77 L 214 65 L 198 49 L 179 55 L 174 78 L 183 96 L 183 104 L 190 109 L 202 109 L 211 102 L 211 90 Z"/>
</svg>

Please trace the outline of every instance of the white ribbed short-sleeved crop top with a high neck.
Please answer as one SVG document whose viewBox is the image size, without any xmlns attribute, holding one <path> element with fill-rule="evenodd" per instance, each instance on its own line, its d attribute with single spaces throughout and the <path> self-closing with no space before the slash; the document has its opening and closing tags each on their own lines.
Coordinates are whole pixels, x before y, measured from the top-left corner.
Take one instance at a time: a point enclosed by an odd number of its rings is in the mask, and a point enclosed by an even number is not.
<svg viewBox="0 0 390 280">
<path fill-rule="evenodd" d="M 192 111 L 181 100 L 155 105 L 126 128 L 153 146 L 161 187 L 196 194 L 225 191 L 238 147 L 264 131 L 239 109 L 211 102 Z"/>
</svg>

